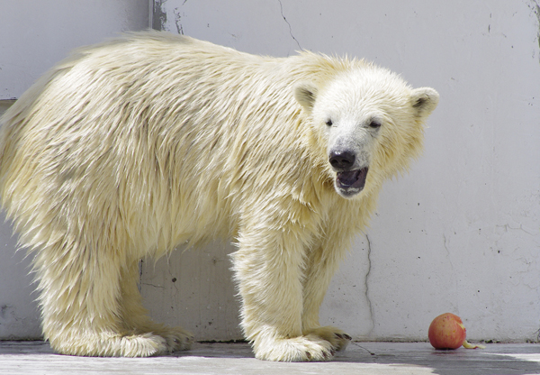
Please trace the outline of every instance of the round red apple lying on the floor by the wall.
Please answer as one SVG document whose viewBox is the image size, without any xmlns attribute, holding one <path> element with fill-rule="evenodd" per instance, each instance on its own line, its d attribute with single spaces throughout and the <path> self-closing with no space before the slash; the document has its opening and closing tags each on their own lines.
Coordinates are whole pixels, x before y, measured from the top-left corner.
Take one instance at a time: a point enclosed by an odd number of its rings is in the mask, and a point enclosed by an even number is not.
<svg viewBox="0 0 540 375">
<path fill-rule="evenodd" d="M 467 330 L 459 316 L 451 313 L 437 316 L 429 325 L 429 343 L 435 349 L 457 349 L 467 337 Z"/>
</svg>

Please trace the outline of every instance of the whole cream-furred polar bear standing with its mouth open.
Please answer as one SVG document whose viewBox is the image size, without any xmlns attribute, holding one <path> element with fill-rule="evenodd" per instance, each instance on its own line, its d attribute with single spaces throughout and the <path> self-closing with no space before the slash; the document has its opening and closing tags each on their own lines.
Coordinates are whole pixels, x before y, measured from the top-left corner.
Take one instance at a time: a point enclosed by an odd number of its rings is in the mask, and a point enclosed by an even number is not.
<svg viewBox="0 0 540 375">
<path fill-rule="evenodd" d="M 256 357 L 327 361 L 319 308 L 383 181 L 419 155 L 432 88 L 358 59 L 254 56 L 165 32 L 86 47 L 4 114 L 0 195 L 59 353 L 188 349 L 150 320 L 139 260 L 214 238 Z"/>
</svg>

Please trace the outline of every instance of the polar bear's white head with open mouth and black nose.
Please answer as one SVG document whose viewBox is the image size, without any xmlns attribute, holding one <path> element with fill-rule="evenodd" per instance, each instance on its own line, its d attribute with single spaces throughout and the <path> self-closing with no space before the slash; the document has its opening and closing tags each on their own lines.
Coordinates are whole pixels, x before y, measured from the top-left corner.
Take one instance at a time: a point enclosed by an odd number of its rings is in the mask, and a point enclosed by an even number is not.
<svg viewBox="0 0 540 375">
<path fill-rule="evenodd" d="M 408 168 L 439 98 L 433 88 L 412 89 L 397 74 L 363 62 L 326 82 L 302 82 L 294 96 L 309 114 L 336 191 L 347 198 Z"/>
</svg>

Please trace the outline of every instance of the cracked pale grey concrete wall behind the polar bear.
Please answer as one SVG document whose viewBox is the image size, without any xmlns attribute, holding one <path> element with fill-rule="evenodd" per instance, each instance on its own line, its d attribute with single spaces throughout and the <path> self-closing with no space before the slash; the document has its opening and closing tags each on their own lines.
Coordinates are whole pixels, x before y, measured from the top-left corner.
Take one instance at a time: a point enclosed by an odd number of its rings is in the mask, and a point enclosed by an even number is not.
<svg viewBox="0 0 540 375">
<path fill-rule="evenodd" d="M 114 16 L 92 19 L 86 14 L 94 7 L 69 1 L 2 3 L 1 98 L 19 96 L 72 47 L 143 28 L 147 20 L 145 2 L 137 3 L 138 11 L 128 1 L 97 3 Z M 79 13 L 67 16 L 76 12 L 67 12 L 68 5 Z M 130 18 L 131 11 L 139 16 Z M 415 87 L 439 91 L 423 157 L 410 174 L 384 187 L 371 227 L 358 236 L 333 280 L 322 323 L 357 339 L 421 340 L 431 319 L 448 311 L 464 318 L 472 339 L 536 340 L 535 1 L 163 0 L 154 11 L 154 27 L 170 32 L 275 56 L 303 49 L 364 57 L 400 72 Z M 49 28 L 57 28 L 54 36 L 43 37 Z M 49 50 L 55 55 L 49 57 Z M 35 64 L 27 67 L 28 61 Z M 27 262 L 23 254 L 13 255 L 9 231 L 0 227 L 0 338 L 36 335 Z M 157 264 L 145 261 L 141 292 L 151 315 L 184 325 L 199 339 L 239 338 L 230 251 L 229 244 L 216 243 L 174 252 Z"/>
</svg>

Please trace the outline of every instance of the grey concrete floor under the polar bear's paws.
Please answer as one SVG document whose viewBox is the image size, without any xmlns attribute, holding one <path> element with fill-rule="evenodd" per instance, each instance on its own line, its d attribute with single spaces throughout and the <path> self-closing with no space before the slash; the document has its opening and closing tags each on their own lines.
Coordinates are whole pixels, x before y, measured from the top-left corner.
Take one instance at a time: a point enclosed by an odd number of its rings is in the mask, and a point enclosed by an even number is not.
<svg viewBox="0 0 540 375">
<path fill-rule="evenodd" d="M 258 361 L 247 343 L 197 343 L 153 358 L 54 354 L 42 342 L 0 342 L 0 374 L 540 374 L 540 344 L 491 343 L 483 350 L 435 351 L 429 343 L 351 343 L 334 361 Z"/>
</svg>

